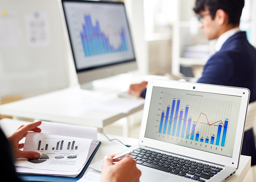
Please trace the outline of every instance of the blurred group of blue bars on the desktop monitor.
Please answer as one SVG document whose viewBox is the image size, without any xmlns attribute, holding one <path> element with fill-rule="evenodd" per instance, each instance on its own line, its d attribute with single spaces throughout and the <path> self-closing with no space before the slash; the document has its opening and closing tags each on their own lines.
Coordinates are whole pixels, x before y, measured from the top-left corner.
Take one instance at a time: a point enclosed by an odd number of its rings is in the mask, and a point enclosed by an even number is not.
<svg viewBox="0 0 256 182">
<path fill-rule="evenodd" d="M 85 57 L 127 51 L 129 49 L 124 27 L 118 32 L 121 43 L 117 48 L 114 48 L 105 33 L 101 32 L 98 20 L 95 21 L 95 26 L 93 26 L 91 16 L 84 15 L 84 21 L 85 24 L 82 25 L 83 32 L 80 33 L 80 36 Z"/>
</svg>

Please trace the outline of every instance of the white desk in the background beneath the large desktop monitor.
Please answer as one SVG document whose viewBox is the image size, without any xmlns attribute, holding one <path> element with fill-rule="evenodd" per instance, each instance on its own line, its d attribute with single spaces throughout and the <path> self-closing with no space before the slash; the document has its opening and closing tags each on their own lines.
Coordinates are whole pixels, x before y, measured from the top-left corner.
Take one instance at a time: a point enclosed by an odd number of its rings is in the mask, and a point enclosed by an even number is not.
<svg viewBox="0 0 256 182">
<path fill-rule="evenodd" d="M 167 79 L 165 76 L 157 75 L 136 76 L 122 74 L 111 78 L 112 80 L 99 80 L 98 83 L 96 82 L 96 85 L 105 84 L 108 87 L 122 87 L 127 90 L 131 83 L 140 83 L 141 80 L 149 80 L 151 78 Z M 0 105 L 0 113 L 1 115 L 12 116 L 14 119 L 28 118 L 86 125 L 97 127 L 100 129 L 99 131 L 102 131 L 104 126 L 142 110 L 144 105 L 144 102 L 142 102 L 128 113 L 83 110 L 83 107 L 88 107 L 93 102 L 92 98 L 97 98 L 98 96 L 100 95 L 97 92 L 83 90 L 79 87 L 71 87 Z M 108 94 L 105 97 L 116 99 L 117 95 Z M 107 108 L 108 105 L 106 104 L 104 107 Z"/>
</svg>

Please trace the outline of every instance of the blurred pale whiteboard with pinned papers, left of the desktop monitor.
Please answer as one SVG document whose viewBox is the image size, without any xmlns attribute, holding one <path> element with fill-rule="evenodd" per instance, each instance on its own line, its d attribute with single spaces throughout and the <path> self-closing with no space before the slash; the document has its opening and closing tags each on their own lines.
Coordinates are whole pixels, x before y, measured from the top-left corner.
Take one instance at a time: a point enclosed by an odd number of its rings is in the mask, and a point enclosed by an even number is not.
<svg viewBox="0 0 256 182">
<path fill-rule="evenodd" d="M 0 96 L 68 87 L 57 0 L 0 1 Z"/>
</svg>

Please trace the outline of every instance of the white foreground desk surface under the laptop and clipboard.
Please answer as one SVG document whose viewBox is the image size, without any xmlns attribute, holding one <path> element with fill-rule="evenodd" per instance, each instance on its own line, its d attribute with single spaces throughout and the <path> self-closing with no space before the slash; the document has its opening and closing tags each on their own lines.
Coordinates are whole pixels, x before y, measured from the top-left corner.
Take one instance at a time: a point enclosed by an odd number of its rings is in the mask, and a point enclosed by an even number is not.
<svg viewBox="0 0 256 182">
<path fill-rule="evenodd" d="M 12 133 L 20 125 L 24 125 L 27 123 L 29 123 L 29 122 L 6 119 L 6 118 L 0 120 L 0 126 L 5 134 Z M 98 140 L 101 141 L 101 145 L 100 145 L 100 148 L 98 149 L 97 153 L 95 154 L 94 158 L 92 159 L 91 164 L 102 160 L 105 155 L 115 154 L 115 153 L 118 153 L 121 150 L 124 150 L 126 148 L 123 144 L 121 144 L 120 142 L 118 142 L 116 140 L 108 141 L 108 139 L 101 133 L 98 133 L 97 137 L 98 137 Z M 120 137 L 120 136 L 114 136 L 114 135 L 108 135 L 108 137 L 109 137 L 109 139 L 116 138 L 116 139 L 122 141 L 124 144 L 128 144 L 128 145 L 134 145 L 134 144 L 138 143 L 138 139 L 134 139 L 134 138 Z M 246 176 L 247 172 L 249 171 L 250 167 L 251 167 L 251 157 L 241 155 L 238 170 L 232 177 L 227 179 L 226 182 L 242 182 L 244 177 Z M 98 171 L 88 168 L 86 170 L 85 174 L 89 171 L 99 173 Z"/>
</svg>

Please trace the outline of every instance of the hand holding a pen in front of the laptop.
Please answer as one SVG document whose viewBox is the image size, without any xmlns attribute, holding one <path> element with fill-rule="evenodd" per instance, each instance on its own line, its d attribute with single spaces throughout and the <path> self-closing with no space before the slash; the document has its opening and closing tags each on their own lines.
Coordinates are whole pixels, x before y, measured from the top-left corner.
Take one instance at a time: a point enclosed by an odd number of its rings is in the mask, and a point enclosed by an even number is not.
<svg viewBox="0 0 256 182">
<path fill-rule="evenodd" d="M 113 164 L 115 155 L 106 155 L 101 166 L 101 182 L 139 182 L 141 172 L 132 157 L 124 157 Z"/>
</svg>

